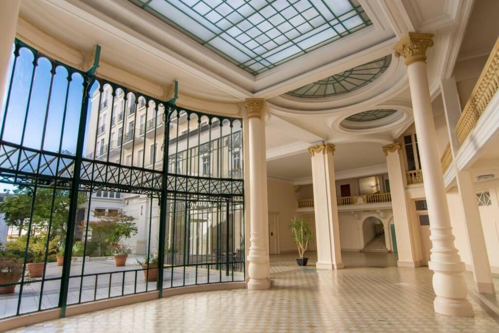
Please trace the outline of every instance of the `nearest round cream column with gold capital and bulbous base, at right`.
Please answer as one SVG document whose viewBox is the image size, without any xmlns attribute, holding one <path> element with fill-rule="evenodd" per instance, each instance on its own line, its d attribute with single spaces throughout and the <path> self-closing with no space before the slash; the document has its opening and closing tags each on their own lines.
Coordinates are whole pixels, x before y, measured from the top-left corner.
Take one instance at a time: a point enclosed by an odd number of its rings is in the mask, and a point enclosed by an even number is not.
<svg viewBox="0 0 499 333">
<path fill-rule="evenodd" d="M 434 271 L 433 289 L 437 295 L 434 309 L 447 316 L 470 317 L 473 308 L 467 299 L 468 289 L 463 276 L 465 264 L 454 246 L 426 73 L 426 49 L 433 46 L 432 37 L 431 34 L 408 33 L 394 49 L 395 56 L 405 57 L 409 76 L 433 244 L 428 266 Z"/>
</svg>

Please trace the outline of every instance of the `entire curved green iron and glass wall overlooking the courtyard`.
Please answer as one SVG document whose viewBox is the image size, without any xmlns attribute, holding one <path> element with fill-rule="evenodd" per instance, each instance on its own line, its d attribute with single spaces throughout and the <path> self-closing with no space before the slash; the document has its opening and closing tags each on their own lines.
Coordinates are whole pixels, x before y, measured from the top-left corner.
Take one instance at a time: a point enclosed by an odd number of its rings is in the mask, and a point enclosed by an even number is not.
<svg viewBox="0 0 499 333">
<path fill-rule="evenodd" d="M 16 40 L 0 127 L 0 318 L 245 280 L 241 119 Z"/>
</svg>

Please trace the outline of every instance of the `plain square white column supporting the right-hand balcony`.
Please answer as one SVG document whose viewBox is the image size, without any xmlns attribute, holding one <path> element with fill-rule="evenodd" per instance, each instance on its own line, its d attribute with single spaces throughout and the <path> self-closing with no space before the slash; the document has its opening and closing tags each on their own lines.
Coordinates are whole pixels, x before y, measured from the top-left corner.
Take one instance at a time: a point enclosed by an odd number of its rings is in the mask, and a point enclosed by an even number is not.
<svg viewBox="0 0 499 333">
<path fill-rule="evenodd" d="M 489 255 L 485 246 L 484 229 L 477 202 L 475 182 L 470 171 L 458 170 L 454 161 L 459 150 L 459 141 L 456 133 L 456 125 L 461 116 L 461 105 L 459 103 L 458 89 L 454 78 L 442 80 L 440 84 L 442 98 L 444 101 L 445 116 L 447 119 L 447 131 L 451 145 L 453 162 L 449 168 L 455 168 L 456 183 L 463 204 L 465 217 L 465 230 L 470 249 L 471 266 L 475 287 L 479 293 L 495 294 L 492 281 L 491 265 Z"/>
</svg>

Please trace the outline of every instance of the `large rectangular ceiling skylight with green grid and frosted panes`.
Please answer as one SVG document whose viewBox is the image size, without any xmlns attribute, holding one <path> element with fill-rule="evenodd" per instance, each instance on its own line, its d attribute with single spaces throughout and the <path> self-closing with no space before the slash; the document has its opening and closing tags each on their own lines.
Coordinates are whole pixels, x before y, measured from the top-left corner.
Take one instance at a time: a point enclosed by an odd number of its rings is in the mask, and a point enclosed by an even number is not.
<svg viewBox="0 0 499 333">
<path fill-rule="evenodd" d="M 130 0 L 251 74 L 371 24 L 358 0 Z"/>
</svg>

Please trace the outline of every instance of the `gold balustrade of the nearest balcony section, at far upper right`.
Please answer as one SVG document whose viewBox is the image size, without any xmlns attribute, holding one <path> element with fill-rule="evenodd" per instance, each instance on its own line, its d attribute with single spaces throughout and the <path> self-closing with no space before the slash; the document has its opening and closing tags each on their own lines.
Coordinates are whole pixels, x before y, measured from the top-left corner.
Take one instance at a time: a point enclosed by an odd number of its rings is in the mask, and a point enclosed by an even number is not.
<svg viewBox="0 0 499 333">
<path fill-rule="evenodd" d="M 466 103 L 463 113 L 456 126 L 460 144 L 465 142 L 468 135 L 477 125 L 478 119 L 491 102 L 499 88 L 499 38 L 492 49 L 491 55 L 485 64 L 484 70 Z"/>
</svg>

